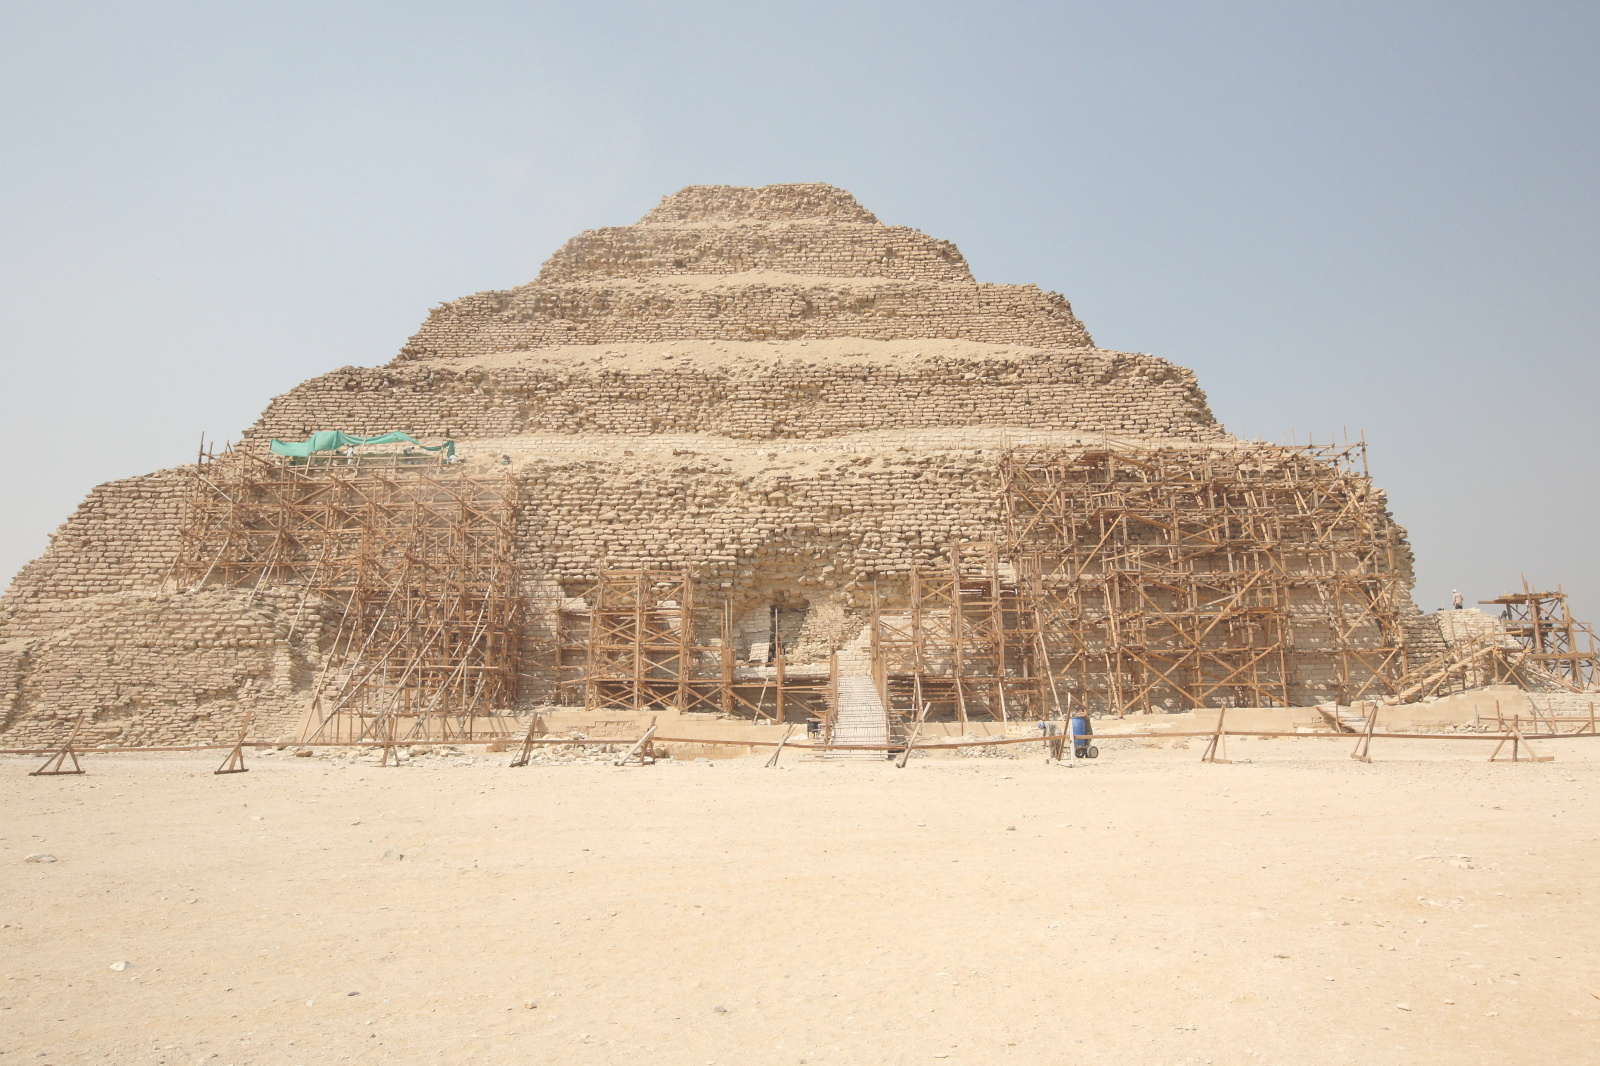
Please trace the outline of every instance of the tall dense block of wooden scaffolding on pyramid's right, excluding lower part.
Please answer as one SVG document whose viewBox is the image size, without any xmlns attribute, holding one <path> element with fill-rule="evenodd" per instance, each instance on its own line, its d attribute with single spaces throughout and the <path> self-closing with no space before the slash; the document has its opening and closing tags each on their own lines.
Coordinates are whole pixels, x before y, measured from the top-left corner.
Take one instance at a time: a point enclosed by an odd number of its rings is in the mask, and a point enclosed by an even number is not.
<svg viewBox="0 0 1600 1066">
<path fill-rule="evenodd" d="M 1349 704 L 1406 669 L 1362 443 L 1013 450 L 1000 479 L 1038 666 L 1077 707 Z"/>
</svg>

